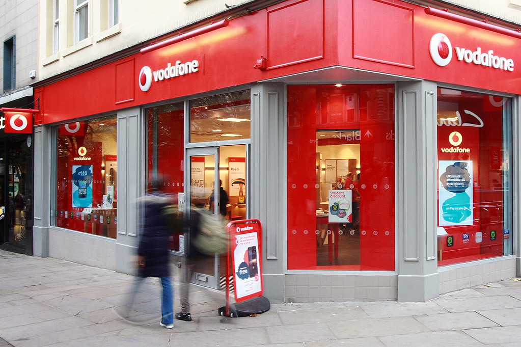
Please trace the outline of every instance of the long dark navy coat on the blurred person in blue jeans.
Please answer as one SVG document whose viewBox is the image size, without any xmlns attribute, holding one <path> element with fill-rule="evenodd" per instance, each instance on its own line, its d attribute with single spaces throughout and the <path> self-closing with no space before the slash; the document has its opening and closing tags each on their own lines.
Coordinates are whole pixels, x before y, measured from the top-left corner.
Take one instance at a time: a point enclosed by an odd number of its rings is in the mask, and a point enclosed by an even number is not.
<svg viewBox="0 0 521 347">
<path fill-rule="evenodd" d="M 141 208 L 141 239 L 138 255 L 145 257 L 144 267 L 139 268 L 141 277 L 170 276 L 168 266 L 170 227 L 164 213 L 165 207 L 171 204 L 167 194 L 155 191 L 138 200 Z"/>
</svg>

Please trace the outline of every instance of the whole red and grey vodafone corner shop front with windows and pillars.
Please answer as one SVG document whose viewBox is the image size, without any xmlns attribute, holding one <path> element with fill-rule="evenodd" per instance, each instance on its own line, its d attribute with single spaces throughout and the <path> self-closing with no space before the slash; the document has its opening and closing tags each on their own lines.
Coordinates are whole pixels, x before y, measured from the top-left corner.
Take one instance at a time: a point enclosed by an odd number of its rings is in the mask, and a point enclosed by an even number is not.
<svg viewBox="0 0 521 347">
<path fill-rule="evenodd" d="M 35 255 L 131 272 L 135 199 L 166 176 L 180 215 L 261 221 L 272 302 L 427 301 L 519 276 L 518 32 L 400 1 L 240 9 L 35 85 L 35 165 L 53 178 L 34 178 Z M 182 233 L 171 250 L 182 262 Z M 195 281 L 221 289 L 223 264 Z"/>
</svg>

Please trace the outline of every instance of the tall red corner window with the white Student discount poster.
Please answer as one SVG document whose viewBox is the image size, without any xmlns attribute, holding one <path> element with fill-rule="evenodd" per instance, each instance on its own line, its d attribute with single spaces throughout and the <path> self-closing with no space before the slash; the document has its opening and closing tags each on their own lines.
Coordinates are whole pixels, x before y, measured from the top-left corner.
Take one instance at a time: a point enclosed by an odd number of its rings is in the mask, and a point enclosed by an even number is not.
<svg viewBox="0 0 521 347">
<path fill-rule="evenodd" d="M 394 87 L 288 86 L 288 269 L 394 270 Z"/>
</svg>

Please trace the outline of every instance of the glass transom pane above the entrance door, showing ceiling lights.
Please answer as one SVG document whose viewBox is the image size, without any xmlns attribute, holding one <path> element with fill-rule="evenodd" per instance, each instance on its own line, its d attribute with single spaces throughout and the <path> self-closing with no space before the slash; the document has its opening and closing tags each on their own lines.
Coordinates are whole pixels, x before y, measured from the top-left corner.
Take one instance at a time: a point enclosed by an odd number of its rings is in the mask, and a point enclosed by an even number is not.
<svg viewBox="0 0 521 347">
<path fill-rule="evenodd" d="M 190 102 L 190 142 L 249 138 L 249 90 Z"/>
</svg>

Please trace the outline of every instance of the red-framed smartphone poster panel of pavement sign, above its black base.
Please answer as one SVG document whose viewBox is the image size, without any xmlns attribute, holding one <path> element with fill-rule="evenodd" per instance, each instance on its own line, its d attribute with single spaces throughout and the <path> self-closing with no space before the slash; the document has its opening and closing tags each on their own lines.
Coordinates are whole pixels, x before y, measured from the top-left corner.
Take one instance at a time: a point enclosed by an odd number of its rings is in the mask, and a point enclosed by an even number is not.
<svg viewBox="0 0 521 347">
<path fill-rule="evenodd" d="M 237 302 L 262 295 L 260 232 L 258 222 L 231 226 L 235 301 Z"/>
</svg>

